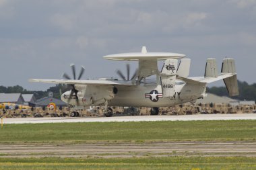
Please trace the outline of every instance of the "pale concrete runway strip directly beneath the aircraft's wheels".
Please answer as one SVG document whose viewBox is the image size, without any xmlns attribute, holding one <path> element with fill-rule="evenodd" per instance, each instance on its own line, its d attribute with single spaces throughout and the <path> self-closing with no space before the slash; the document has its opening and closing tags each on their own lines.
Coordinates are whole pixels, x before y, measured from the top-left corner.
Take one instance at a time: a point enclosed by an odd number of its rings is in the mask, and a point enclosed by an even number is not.
<svg viewBox="0 0 256 170">
<path fill-rule="evenodd" d="M 4 118 L 4 124 L 39 124 L 61 122 L 141 122 L 141 121 L 191 121 L 191 120 L 256 120 L 256 114 L 196 114 L 182 116 L 117 116 L 78 118 Z"/>
</svg>

